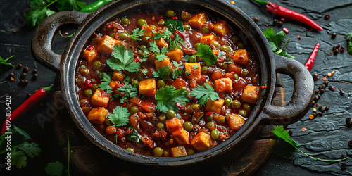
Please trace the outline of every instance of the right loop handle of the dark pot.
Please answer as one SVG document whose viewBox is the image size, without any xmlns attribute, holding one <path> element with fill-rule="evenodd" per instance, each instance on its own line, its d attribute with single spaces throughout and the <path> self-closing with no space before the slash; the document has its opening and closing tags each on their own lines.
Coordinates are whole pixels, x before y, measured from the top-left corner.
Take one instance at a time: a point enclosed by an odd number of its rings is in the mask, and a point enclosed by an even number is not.
<svg viewBox="0 0 352 176">
<path fill-rule="evenodd" d="M 314 94 L 313 78 L 304 65 L 292 58 L 277 54 L 272 54 L 272 58 L 275 63 L 275 72 L 289 75 L 294 80 L 294 92 L 291 101 L 286 106 L 273 106 L 272 103 L 266 103 L 263 112 L 268 116 L 265 116 L 262 122 L 272 125 L 291 124 L 306 115 L 311 106 Z M 273 79 L 272 84 L 275 84 L 276 74 Z M 273 92 L 270 93 L 268 99 L 272 100 L 273 94 Z"/>
</svg>

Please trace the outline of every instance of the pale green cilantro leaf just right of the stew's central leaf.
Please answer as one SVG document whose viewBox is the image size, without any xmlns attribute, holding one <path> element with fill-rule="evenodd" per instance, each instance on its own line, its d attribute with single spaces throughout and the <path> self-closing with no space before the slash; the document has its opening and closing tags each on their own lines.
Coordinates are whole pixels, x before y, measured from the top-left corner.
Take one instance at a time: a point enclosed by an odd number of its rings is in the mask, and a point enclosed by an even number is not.
<svg viewBox="0 0 352 176">
<path fill-rule="evenodd" d="M 204 85 L 206 88 L 199 85 L 198 87 L 191 90 L 191 95 L 199 100 L 199 105 L 201 106 L 205 105 L 208 99 L 213 101 L 219 99 L 219 95 L 215 92 L 213 87 L 211 87 L 209 84 Z"/>
</svg>

